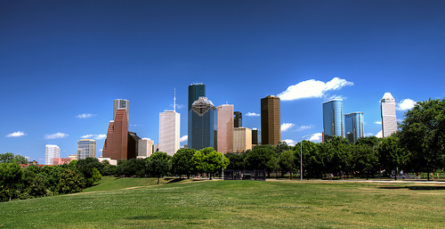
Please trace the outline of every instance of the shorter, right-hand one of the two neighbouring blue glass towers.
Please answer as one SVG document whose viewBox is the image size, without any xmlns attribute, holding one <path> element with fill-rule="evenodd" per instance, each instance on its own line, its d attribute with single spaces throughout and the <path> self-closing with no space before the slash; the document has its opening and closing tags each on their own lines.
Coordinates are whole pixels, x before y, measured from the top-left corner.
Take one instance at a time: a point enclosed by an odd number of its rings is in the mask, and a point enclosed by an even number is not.
<svg viewBox="0 0 445 229">
<path fill-rule="evenodd" d="M 344 115 L 344 134 L 350 143 L 357 143 L 357 139 L 365 136 L 363 123 L 363 112 Z"/>
</svg>

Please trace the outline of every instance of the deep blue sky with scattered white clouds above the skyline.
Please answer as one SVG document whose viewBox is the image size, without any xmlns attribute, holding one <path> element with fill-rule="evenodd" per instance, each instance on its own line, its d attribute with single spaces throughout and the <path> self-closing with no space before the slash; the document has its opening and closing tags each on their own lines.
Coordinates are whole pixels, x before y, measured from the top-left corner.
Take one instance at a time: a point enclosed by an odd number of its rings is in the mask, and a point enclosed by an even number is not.
<svg viewBox="0 0 445 229">
<path fill-rule="evenodd" d="M 443 1 L 1 1 L 0 152 L 43 163 L 44 144 L 68 157 L 89 136 L 100 156 L 117 98 L 130 101 L 130 131 L 158 143 L 174 88 L 185 139 L 194 82 L 250 128 L 261 98 L 280 95 L 288 143 L 323 131 L 330 98 L 377 135 L 385 92 L 398 119 L 445 96 L 443 12 Z"/>
</svg>

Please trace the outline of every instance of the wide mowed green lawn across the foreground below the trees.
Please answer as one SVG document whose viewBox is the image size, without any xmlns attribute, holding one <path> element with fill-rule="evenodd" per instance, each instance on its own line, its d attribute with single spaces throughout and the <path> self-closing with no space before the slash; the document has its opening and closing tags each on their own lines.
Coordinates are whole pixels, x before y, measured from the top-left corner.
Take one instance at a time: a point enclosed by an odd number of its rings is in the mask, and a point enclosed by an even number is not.
<svg viewBox="0 0 445 229">
<path fill-rule="evenodd" d="M 0 228 L 443 228 L 445 184 L 105 177 L 0 203 Z"/>
</svg>

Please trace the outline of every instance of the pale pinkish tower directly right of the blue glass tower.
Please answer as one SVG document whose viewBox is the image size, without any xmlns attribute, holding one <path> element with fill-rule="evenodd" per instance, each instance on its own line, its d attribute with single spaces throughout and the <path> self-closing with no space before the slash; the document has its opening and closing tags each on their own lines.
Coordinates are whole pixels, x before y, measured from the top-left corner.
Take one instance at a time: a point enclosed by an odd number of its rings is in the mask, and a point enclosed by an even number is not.
<svg viewBox="0 0 445 229">
<path fill-rule="evenodd" d="M 233 151 L 233 105 L 221 105 L 218 110 L 217 149 L 228 153 Z"/>
</svg>

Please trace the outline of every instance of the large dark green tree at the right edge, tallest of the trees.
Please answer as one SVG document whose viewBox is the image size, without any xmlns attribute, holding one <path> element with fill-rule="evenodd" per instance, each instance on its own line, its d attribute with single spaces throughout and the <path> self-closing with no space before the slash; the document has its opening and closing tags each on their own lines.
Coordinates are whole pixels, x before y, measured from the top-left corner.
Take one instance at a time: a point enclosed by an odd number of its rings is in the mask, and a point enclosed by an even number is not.
<svg viewBox="0 0 445 229">
<path fill-rule="evenodd" d="M 410 152 L 413 168 L 429 174 L 444 166 L 445 99 L 417 102 L 400 124 L 400 141 Z"/>
</svg>

